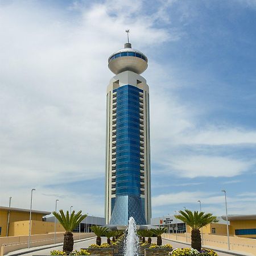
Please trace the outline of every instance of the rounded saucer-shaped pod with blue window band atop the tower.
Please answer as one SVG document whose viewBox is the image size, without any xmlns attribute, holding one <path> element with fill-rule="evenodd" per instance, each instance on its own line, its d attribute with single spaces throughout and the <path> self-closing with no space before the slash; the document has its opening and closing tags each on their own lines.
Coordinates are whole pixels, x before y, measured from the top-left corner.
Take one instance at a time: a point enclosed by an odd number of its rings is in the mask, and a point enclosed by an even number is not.
<svg viewBox="0 0 256 256">
<path fill-rule="evenodd" d="M 137 74 L 143 73 L 147 69 L 147 57 L 137 49 L 131 48 L 130 43 L 125 43 L 125 47 L 114 52 L 109 57 L 109 69 L 115 74 L 124 71 L 133 71 Z"/>
</svg>

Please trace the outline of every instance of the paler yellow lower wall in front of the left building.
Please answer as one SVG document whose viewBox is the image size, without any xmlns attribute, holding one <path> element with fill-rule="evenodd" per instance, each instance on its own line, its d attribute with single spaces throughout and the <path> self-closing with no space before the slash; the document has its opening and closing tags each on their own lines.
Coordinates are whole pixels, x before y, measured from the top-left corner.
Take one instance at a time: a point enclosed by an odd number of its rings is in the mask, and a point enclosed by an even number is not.
<svg viewBox="0 0 256 256">
<path fill-rule="evenodd" d="M 15 221 L 9 226 L 9 236 L 26 236 L 29 234 L 30 221 Z M 31 221 L 31 234 L 47 234 L 54 232 L 54 222 Z M 63 226 L 56 223 L 56 232 L 65 232 Z"/>
</svg>

